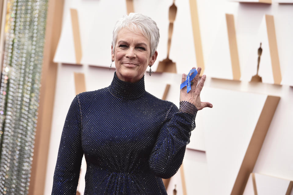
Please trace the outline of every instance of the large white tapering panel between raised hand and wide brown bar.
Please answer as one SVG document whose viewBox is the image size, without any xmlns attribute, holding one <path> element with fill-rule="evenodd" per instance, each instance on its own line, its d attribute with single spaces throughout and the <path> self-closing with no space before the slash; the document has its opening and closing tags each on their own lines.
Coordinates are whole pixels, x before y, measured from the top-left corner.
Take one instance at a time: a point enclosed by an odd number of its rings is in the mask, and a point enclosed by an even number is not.
<svg viewBox="0 0 293 195">
<path fill-rule="evenodd" d="M 213 103 L 211 110 L 201 111 L 211 191 L 230 194 L 267 96 L 208 87 L 203 91 L 201 98 Z"/>
</svg>

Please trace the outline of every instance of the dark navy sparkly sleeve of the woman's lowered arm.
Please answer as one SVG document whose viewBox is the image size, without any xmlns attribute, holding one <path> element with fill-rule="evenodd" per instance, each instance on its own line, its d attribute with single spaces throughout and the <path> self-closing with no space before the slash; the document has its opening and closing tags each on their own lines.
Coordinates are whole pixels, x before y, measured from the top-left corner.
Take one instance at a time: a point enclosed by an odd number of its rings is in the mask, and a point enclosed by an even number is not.
<svg viewBox="0 0 293 195">
<path fill-rule="evenodd" d="M 53 194 L 76 194 L 83 150 L 81 148 L 81 110 L 78 95 L 71 102 L 61 135 L 54 172 Z"/>
</svg>

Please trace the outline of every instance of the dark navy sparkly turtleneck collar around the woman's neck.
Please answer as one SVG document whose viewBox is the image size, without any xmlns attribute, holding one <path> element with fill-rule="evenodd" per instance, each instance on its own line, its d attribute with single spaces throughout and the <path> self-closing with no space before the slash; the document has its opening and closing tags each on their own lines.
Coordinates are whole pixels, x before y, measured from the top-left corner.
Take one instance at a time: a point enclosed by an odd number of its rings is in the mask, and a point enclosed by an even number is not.
<svg viewBox="0 0 293 195">
<path fill-rule="evenodd" d="M 135 99 L 146 93 L 144 88 L 144 75 L 136 83 L 129 83 L 118 79 L 116 71 L 111 85 L 109 86 L 110 93 L 116 97 L 123 99 Z"/>
</svg>

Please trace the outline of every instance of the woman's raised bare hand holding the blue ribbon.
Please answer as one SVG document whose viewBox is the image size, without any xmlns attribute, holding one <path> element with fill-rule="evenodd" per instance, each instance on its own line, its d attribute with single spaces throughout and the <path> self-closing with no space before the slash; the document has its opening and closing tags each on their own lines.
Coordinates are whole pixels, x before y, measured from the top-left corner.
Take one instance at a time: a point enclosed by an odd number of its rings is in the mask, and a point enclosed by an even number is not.
<svg viewBox="0 0 293 195">
<path fill-rule="evenodd" d="M 192 69 L 194 69 L 194 68 L 195 67 L 193 67 Z M 198 83 L 200 73 L 201 73 L 201 68 L 198 67 L 197 68 L 197 75 L 192 80 L 193 84 L 191 86 L 191 90 L 188 93 L 186 90 L 186 86 L 180 90 L 180 101 L 188 101 L 188 102 L 194 104 L 197 107 L 197 110 L 201 110 L 205 107 L 209 107 L 209 108 L 213 107 L 213 105 L 210 102 L 202 102 L 201 101 L 200 94 L 201 94 L 201 90 L 204 86 L 204 81 L 205 81 L 206 75 L 203 75 L 201 77 L 201 81 Z M 181 83 L 183 83 L 185 80 L 186 80 L 186 75 L 183 73 Z M 198 85 L 197 85 L 197 83 L 198 83 Z"/>
</svg>

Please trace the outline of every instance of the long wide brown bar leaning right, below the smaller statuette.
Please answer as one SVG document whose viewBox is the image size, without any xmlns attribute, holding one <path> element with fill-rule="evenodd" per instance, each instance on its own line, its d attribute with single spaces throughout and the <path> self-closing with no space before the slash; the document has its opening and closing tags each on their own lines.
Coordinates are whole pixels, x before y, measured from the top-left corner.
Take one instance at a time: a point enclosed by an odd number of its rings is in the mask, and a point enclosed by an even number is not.
<svg viewBox="0 0 293 195">
<path fill-rule="evenodd" d="M 269 125 L 273 119 L 279 101 L 280 97 L 267 96 L 235 180 L 231 195 L 243 194 L 249 175 L 253 171 L 257 157 L 259 156 L 259 152 L 262 148 L 262 143 L 265 140 L 266 133 L 269 129 Z"/>
</svg>

